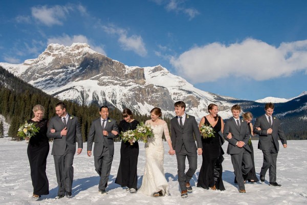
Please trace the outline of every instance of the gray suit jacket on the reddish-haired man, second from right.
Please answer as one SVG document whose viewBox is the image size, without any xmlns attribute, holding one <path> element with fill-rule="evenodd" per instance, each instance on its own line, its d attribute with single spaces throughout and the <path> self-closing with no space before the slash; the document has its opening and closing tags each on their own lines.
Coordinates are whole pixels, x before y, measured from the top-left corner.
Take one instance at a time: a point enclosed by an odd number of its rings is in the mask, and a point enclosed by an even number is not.
<svg viewBox="0 0 307 205">
<path fill-rule="evenodd" d="M 247 151 L 251 152 L 251 149 L 248 144 L 248 140 L 250 138 L 250 133 L 248 129 L 247 122 L 240 119 L 240 129 L 238 128 L 236 121 L 233 117 L 228 119 L 225 122 L 224 126 L 224 138 L 228 141 L 228 148 L 227 148 L 227 154 L 239 154 L 240 152 L 244 151 L 243 149 L 246 149 Z M 228 139 L 228 134 L 231 133 L 232 138 Z M 242 148 L 237 147 L 235 144 L 237 141 L 244 141 L 245 146 Z"/>
</svg>

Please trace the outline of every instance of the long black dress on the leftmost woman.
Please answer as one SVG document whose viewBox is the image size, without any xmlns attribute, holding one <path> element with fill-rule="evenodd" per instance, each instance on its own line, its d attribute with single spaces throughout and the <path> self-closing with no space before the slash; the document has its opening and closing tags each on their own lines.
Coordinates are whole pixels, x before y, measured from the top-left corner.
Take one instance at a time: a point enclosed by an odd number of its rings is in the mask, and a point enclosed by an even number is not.
<svg viewBox="0 0 307 205">
<path fill-rule="evenodd" d="M 28 144 L 28 158 L 31 168 L 31 179 L 33 185 L 33 194 L 49 194 L 49 182 L 46 175 L 46 163 L 49 153 L 49 139 L 47 137 L 47 119 L 38 122 L 32 119 L 28 122 L 35 122 L 40 128 L 36 135 L 32 136 Z"/>
</svg>

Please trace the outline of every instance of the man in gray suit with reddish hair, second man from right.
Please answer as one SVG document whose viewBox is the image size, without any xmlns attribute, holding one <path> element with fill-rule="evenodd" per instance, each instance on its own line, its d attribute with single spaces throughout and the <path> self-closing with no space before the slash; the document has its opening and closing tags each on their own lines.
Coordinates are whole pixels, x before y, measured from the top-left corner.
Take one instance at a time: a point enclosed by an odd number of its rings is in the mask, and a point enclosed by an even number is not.
<svg viewBox="0 0 307 205">
<path fill-rule="evenodd" d="M 231 107 L 233 117 L 228 119 L 224 127 L 224 138 L 228 141 L 227 154 L 231 155 L 234 175 L 238 182 L 239 192 L 246 193 L 243 174 L 246 175 L 253 167 L 251 149 L 248 144 L 250 133 L 247 122 L 240 120 L 241 107 Z M 230 134 L 231 133 L 231 134 Z"/>
</svg>

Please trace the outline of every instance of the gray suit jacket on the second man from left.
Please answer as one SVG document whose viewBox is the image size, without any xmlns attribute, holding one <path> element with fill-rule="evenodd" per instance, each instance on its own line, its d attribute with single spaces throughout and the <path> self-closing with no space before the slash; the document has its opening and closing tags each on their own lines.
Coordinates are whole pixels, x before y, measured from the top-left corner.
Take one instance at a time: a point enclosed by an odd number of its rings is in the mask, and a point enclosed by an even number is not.
<svg viewBox="0 0 307 205">
<path fill-rule="evenodd" d="M 94 156 L 101 156 L 104 141 L 109 149 L 109 155 L 114 155 L 114 138 L 118 137 L 119 135 L 114 135 L 111 131 L 115 130 L 119 132 L 117 121 L 112 118 L 107 118 L 104 130 L 108 132 L 108 136 L 103 136 L 102 134 L 101 117 L 92 122 L 89 137 L 87 137 L 87 151 L 92 151 L 94 141 Z"/>
</svg>

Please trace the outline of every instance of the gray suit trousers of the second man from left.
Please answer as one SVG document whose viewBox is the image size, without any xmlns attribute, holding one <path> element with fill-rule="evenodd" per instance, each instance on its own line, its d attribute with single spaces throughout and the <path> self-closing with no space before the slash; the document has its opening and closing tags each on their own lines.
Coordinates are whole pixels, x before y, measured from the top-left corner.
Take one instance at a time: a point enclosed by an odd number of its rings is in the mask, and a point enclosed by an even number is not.
<svg viewBox="0 0 307 205">
<path fill-rule="evenodd" d="M 103 146 L 103 151 L 100 156 L 94 156 L 95 170 L 100 176 L 98 189 L 105 190 L 107 181 L 111 172 L 113 155 L 109 155 L 107 147 Z"/>
</svg>

